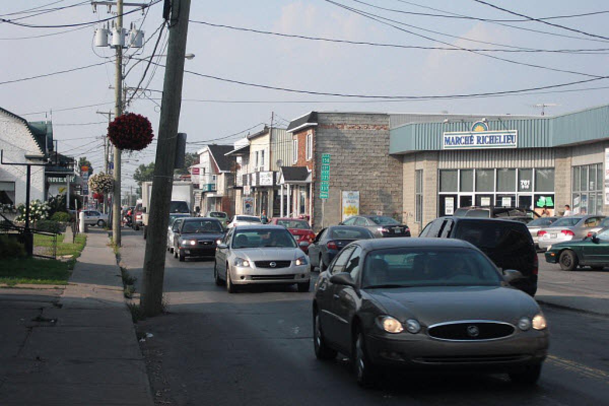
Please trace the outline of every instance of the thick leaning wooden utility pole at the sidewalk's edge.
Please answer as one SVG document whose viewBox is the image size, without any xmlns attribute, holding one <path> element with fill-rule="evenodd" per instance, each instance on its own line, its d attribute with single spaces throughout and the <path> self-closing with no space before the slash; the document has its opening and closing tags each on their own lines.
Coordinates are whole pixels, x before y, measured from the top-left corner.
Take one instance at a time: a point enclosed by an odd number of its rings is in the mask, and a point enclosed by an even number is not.
<svg viewBox="0 0 609 406">
<path fill-rule="evenodd" d="M 166 2 L 167 4 L 167 2 Z M 152 195 L 150 197 L 149 231 L 144 255 L 144 282 L 141 307 L 146 316 L 163 311 L 163 278 L 169 203 L 174 181 L 175 145 L 178 136 L 186 36 L 191 0 L 171 2 L 169 18 L 169 44 L 163 82 L 163 100 L 158 130 L 157 156 L 155 160 Z M 166 15 L 166 14 L 165 14 Z"/>
</svg>

